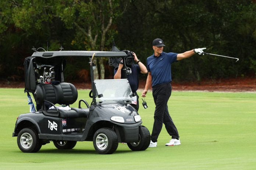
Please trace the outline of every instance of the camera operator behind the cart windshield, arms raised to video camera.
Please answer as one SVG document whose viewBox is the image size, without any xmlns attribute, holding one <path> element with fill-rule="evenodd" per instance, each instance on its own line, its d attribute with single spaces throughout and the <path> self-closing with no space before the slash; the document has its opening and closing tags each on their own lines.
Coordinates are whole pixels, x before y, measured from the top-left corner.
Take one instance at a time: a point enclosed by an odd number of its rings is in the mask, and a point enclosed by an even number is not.
<svg viewBox="0 0 256 170">
<path fill-rule="evenodd" d="M 129 81 L 129 84 L 132 89 L 132 93 L 136 93 L 136 100 L 132 101 L 132 107 L 134 107 L 137 111 L 139 110 L 139 96 L 137 94 L 137 90 L 139 88 L 139 73 L 147 74 L 147 68 L 146 66 L 137 58 L 136 54 L 132 52 L 132 55 L 134 56 L 134 62 L 137 64 L 128 65 L 127 63 L 124 63 L 122 60 L 119 63 L 119 66 L 114 69 L 114 79 L 120 79 L 125 78 L 126 73 L 122 71 L 122 68 L 125 64 L 126 67 L 128 67 L 128 70 L 130 71 L 130 74 L 127 74 L 127 79 Z"/>
</svg>

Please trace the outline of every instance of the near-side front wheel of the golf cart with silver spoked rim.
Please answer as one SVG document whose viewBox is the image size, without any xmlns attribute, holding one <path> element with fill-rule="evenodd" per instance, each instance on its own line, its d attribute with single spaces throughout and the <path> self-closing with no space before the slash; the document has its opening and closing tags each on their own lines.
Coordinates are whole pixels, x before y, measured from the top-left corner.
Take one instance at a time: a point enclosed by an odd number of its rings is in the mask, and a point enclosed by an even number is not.
<svg viewBox="0 0 256 170">
<path fill-rule="evenodd" d="M 112 154 L 118 147 L 117 134 L 107 127 L 99 129 L 93 136 L 93 146 L 99 154 Z"/>
</svg>

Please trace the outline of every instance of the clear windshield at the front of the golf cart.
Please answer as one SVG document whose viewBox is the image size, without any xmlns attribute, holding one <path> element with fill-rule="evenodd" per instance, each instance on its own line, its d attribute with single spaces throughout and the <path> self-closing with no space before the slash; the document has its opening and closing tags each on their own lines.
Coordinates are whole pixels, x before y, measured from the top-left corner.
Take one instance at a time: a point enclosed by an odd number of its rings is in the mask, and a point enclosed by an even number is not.
<svg viewBox="0 0 256 170">
<path fill-rule="evenodd" d="M 127 79 L 94 80 L 100 101 L 132 99 L 132 89 Z"/>
</svg>

